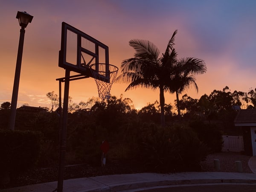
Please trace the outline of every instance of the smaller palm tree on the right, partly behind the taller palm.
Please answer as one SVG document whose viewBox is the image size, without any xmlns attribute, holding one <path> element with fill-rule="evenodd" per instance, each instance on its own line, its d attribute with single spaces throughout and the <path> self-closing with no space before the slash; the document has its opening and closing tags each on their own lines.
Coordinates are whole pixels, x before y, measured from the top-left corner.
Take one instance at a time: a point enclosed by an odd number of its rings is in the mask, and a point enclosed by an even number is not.
<svg viewBox="0 0 256 192">
<path fill-rule="evenodd" d="M 191 85 L 194 85 L 198 92 L 198 86 L 195 82 L 193 75 L 203 74 L 207 71 L 207 67 L 203 60 L 198 58 L 181 58 L 173 65 L 175 73 L 173 74 L 172 81 L 169 82 L 170 93 L 176 94 L 177 111 L 180 119 L 180 104 L 179 94 L 189 89 Z"/>
</svg>

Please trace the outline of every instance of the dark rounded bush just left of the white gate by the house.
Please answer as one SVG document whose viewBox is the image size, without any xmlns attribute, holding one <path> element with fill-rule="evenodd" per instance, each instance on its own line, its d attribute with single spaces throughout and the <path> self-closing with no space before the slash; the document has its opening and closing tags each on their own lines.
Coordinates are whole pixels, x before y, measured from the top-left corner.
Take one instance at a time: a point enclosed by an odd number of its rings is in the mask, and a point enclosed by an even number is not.
<svg viewBox="0 0 256 192">
<path fill-rule="evenodd" d="M 213 125 L 204 124 L 201 121 L 190 123 L 190 127 L 198 134 L 198 138 L 207 145 L 209 152 L 220 152 L 223 146 L 221 131 Z"/>
</svg>

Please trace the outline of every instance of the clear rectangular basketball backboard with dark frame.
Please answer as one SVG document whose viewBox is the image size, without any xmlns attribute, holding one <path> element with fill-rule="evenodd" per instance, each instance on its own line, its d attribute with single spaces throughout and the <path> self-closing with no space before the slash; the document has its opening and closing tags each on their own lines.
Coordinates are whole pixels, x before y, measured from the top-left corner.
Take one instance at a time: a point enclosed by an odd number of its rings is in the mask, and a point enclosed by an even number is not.
<svg viewBox="0 0 256 192">
<path fill-rule="evenodd" d="M 100 65 L 100 63 L 105 65 Z M 109 71 L 108 46 L 85 34 L 69 24 L 62 22 L 61 50 L 59 51 L 59 67 L 95 78 L 90 69 L 94 65 L 96 71 Z M 102 69 L 102 66 L 105 68 Z M 101 69 L 100 69 L 101 68 Z M 109 76 L 99 74 L 101 81 L 109 81 Z"/>
</svg>

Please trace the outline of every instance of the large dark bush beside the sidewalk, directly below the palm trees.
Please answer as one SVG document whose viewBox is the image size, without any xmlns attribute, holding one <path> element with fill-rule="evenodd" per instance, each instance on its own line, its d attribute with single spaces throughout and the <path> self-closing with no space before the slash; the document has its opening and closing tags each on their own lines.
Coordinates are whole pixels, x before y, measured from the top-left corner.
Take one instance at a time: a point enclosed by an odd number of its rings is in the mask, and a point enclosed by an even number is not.
<svg viewBox="0 0 256 192">
<path fill-rule="evenodd" d="M 138 151 L 140 162 L 152 172 L 200 171 L 206 155 L 207 147 L 195 132 L 181 127 L 151 128 Z"/>
</svg>

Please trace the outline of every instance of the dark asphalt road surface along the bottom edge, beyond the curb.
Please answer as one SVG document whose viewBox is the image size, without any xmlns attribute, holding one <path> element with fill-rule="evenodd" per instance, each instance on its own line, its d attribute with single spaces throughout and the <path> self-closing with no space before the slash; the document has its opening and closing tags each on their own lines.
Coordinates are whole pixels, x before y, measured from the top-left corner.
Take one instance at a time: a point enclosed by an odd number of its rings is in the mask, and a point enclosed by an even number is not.
<svg viewBox="0 0 256 192">
<path fill-rule="evenodd" d="M 204 184 L 163 186 L 155 189 L 145 189 L 137 192 L 256 192 L 255 184 Z"/>
</svg>

